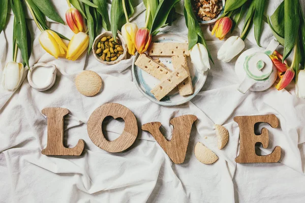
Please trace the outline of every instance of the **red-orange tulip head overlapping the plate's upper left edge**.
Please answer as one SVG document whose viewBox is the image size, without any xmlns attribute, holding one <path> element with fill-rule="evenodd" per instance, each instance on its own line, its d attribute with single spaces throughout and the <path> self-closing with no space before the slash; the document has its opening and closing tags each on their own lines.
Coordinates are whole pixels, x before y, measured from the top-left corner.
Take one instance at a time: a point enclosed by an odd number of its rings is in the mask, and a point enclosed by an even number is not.
<svg viewBox="0 0 305 203">
<path fill-rule="evenodd" d="M 136 49 L 138 52 L 144 53 L 151 42 L 151 35 L 149 35 L 149 29 L 147 28 L 141 28 L 138 29 L 137 34 L 136 34 Z"/>
</svg>

